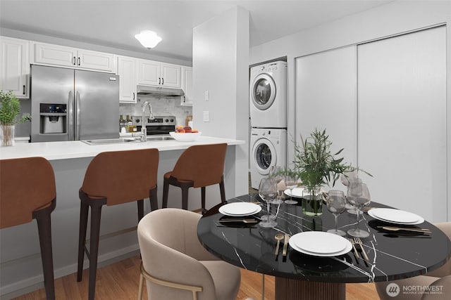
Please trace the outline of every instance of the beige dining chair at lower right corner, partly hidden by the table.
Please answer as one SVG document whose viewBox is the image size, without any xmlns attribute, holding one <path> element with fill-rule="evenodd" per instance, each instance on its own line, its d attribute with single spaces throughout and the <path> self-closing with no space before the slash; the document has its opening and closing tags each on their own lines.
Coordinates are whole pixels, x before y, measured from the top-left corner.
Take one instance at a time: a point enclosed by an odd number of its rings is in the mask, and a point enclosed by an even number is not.
<svg viewBox="0 0 451 300">
<path fill-rule="evenodd" d="M 440 230 L 442 230 L 448 238 L 451 240 L 451 222 L 436 223 L 434 224 Z M 387 286 L 390 283 L 396 283 L 400 287 L 400 294 L 393 297 L 388 295 Z M 403 287 L 430 287 L 431 290 L 438 291 L 433 294 L 403 294 Z M 401 280 L 393 280 L 388 282 L 376 282 L 376 290 L 381 300 L 448 300 L 451 299 L 451 259 L 448 260 L 440 268 L 426 273 L 426 275 L 415 276 L 412 278 L 406 278 Z"/>
</svg>

